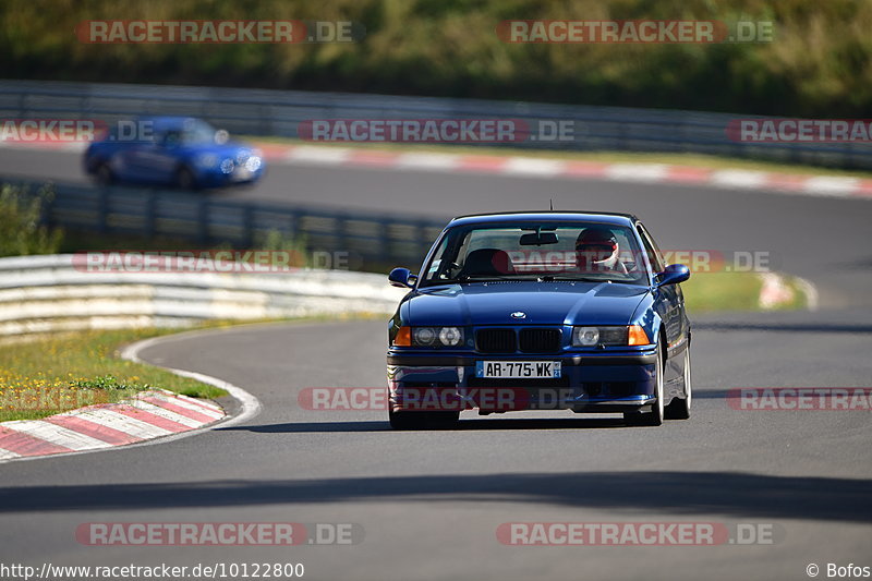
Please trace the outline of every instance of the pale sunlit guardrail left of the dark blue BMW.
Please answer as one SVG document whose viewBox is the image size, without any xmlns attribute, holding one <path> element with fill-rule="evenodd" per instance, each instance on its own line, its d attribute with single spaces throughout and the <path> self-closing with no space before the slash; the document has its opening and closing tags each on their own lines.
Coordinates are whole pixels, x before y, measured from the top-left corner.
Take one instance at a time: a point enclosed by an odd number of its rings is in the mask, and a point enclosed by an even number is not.
<svg viewBox="0 0 872 581">
<path fill-rule="evenodd" d="M 390 314 L 404 291 L 366 273 L 89 271 L 71 254 L 0 258 L 0 337 L 197 320 Z"/>
</svg>

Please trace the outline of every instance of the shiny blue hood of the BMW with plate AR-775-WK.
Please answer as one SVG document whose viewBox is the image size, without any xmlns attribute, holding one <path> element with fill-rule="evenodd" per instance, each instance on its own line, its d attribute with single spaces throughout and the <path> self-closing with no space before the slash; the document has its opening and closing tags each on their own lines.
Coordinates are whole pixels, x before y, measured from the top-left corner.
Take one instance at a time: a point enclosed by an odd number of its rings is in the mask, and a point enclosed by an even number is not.
<svg viewBox="0 0 872 581">
<path fill-rule="evenodd" d="M 499 281 L 421 289 L 408 325 L 629 325 L 647 287 L 608 282 Z M 512 313 L 524 313 L 514 318 Z"/>
</svg>

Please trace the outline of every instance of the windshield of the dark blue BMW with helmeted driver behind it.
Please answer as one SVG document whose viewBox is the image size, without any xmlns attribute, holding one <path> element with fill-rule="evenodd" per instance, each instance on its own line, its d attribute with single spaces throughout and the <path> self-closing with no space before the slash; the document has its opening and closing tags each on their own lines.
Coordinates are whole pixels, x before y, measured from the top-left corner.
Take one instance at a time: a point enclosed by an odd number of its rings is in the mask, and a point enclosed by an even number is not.
<svg viewBox="0 0 872 581">
<path fill-rule="evenodd" d="M 600 222 L 457 227 L 427 264 L 422 287 L 486 280 L 581 280 L 647 285 L 633 231 Z"/>
</svg>

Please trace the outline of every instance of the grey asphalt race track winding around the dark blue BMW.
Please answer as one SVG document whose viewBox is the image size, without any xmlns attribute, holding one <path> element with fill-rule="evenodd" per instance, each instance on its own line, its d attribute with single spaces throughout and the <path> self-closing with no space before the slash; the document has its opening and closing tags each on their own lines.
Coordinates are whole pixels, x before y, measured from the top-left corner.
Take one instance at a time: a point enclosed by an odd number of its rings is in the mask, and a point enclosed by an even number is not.
<svg viewBox="0 0 872 581">
<path fill-rule="evenodd" d="M 0 173 L 36 172 L 47 159 L 8 154 Z M 45 167 L 62 171 L 70 156 L 51 155 Z M 310 579 L 349 580 L 768 580 L 808 579 L 812 562 L 820 577 L 828 562 L 872 566 L 870 413 L 739 411 L 727 399 L 735 387 L 870 384 L 868 202 L 304 167 L 274 168 L 257 189 L 229 195 L 439 215 L 546 207 L 549 197 L 558 208 L 630 210 L 665 247 L 772 253 L 819 287 L 822 308 L 694 317 L 693 417 L 657 428 L 566 412 L 395 433 L 378 411 L 301 409 L 305 387 L 384 385 L 378 320 L 167 339 L 141 356 L 229 380 L 264 411 L 166 444 L 0 465 L 1 561 L 291 561 Z M 87 547 L 74 536 L 86 522 L 256 521 L 355 523 L 365 535 L 293 548 Z M 496 536 L 501 523 L 552 521 L 753 523 L 775 534 L 715 547 L 516 547 Z"/>
</svg>

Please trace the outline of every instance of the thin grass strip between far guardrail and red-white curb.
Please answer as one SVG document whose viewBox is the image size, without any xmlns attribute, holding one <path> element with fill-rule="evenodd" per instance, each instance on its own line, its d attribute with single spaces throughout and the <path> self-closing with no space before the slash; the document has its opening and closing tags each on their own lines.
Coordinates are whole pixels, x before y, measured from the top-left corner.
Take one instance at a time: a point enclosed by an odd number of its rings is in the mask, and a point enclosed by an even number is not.
<svg viewBox="0 0 872 581">
<path fill-rule="evenodd" d="M 291 140 L 286 137 L 264 137 L 256 135 L 241 136 L 246 141 L 264 144 L 306 145 L 314 147 L 353 147 L 380 152 L 434 153 L 446 155 L 481 155 L 481 156 L 523 156 L 543 159 L 561 159 L 568 161 L 596 161 L 604 164 L 667 164 L 691 166 L 707 169 L 739 169 L 748 171 L 766 171 L 772 173 L 801 173 L 806 175 L 833 175 L 839 178 L 872 179 L 872 171 L 846 170 L 767 161 L 762 159 L 743 159 L 704 154 L 661 154 L 632 152 L 574 152 L 568 149 L 531 149 L 524 147 L 488 147 L 463 145 L 434 145 L 409 143 L 323 143 Z"/>
</svg>

